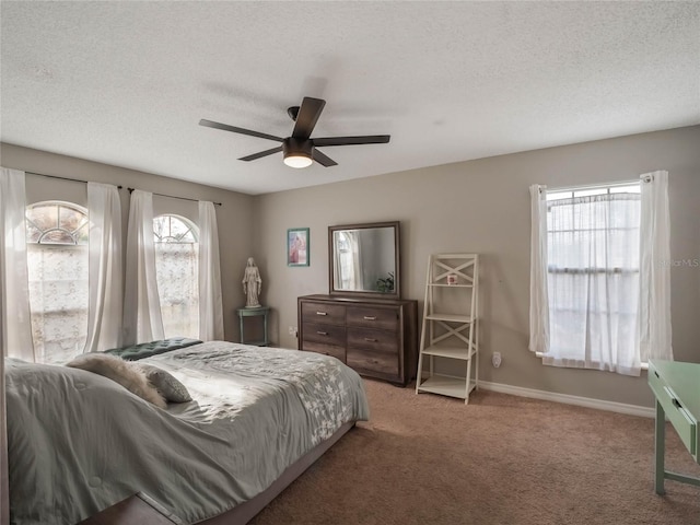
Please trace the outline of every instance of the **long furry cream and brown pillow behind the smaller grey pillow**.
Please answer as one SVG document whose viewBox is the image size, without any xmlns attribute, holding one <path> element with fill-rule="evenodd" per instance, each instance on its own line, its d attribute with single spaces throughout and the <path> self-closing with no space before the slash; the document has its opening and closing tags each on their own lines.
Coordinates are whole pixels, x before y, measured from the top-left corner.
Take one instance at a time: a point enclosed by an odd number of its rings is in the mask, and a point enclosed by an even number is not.
<svg viewBox="0 0 700 525">
<path fill-rule="evenodd" d="M 115 355 L 84 353 L 67 363 L 66 366 L 103 375 L 156 407 L 165 408 L 167 406 L 158 388 L 149 383 L 144 372 L 138 365 Z"/>
</svg>

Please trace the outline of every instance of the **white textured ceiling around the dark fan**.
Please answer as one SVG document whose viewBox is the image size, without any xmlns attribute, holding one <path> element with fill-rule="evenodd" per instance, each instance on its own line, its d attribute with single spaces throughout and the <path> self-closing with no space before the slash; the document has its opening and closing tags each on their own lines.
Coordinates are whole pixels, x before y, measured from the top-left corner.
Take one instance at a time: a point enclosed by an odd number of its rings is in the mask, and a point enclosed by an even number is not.
<svg viewBox="0 0 700 525">
<path fill-rule="evenodd" d="M 0 2 L 1 140 L 262 194 L 700 124 L 699 2 Z M 293 170 L 291 135 L 390 133 Z"/>
</svg>

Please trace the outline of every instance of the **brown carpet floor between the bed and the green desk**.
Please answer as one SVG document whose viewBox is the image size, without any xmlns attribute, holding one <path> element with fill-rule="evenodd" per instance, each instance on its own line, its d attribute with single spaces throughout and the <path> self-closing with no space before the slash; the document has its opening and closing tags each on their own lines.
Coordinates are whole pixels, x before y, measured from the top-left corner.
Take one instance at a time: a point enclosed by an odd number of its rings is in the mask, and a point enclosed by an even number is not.
<svg viewBox="0 0 700 525">
<path fill-rule="evenodd" d="M 365 380 L 360 422 L 252 525 L 700 525 L 700 487 L 653 489 L 654 420 Z M 700 477 L 672 427 L 666 468 Z"/>
</svg>

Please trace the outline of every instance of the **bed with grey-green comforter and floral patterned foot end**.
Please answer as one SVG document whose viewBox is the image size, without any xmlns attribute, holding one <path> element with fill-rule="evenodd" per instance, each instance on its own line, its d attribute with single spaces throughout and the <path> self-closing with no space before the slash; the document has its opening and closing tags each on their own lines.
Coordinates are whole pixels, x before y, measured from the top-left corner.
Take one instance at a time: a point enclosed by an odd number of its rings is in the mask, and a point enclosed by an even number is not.
<svg viewBox="0 0 700 525">
<path fill-rule="evenodd" d="M 335 358 L 223 341 L 139 361 L 191 401 L 158 408 L 107 377 L 5 360 L 11 523 L 75 524 L 135 493 L 176 523 L 249 521 L 369 418 Z"/>
</svg>

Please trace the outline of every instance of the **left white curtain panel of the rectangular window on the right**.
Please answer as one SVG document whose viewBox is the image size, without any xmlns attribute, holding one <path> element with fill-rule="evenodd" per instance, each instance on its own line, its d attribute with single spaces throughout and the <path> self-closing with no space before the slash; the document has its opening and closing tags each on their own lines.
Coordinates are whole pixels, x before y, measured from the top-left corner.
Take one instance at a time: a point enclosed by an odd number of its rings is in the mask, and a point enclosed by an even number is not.
<svg viewBox="0 0 700 525">
<path fill-rule="evenodd" d="M 529 187 L 529 345 L 533 352 L 549 351 L 549 299 L 547 288 L 547 187 Z"/>
</svg>

